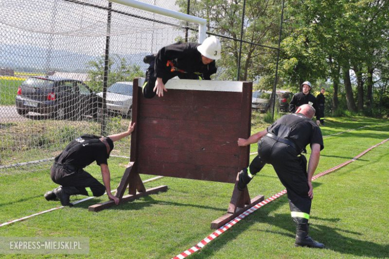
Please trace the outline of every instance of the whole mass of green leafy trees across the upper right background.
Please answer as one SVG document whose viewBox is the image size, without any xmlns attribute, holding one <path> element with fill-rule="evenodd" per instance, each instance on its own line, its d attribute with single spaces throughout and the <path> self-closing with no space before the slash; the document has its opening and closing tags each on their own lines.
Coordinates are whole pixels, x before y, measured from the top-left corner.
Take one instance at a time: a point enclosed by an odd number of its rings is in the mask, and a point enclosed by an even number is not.
<svg viewBox="0 0 389 259">
<path fill-rule="evenodd" d="M 186 12 L 188 1 L 177 3 Z M 244 40 L 276 47 L 281 3 L 246 0 Z M 190 14 L 206 18 L 209 32 L 239 39 L 242 8 L 243 0 L 192 0 Z M 371 108 L 375 84 L 388 78 L 389 1 L 289 0 L 284 17 L 280 84 L 297 90 L 306 80 L 330 81 L 333 110 L 343 102 L 350 111 L 356 104 L 360 111 Z M 241 55 L 240 78 L 259 79 L 260 88 L 269 89 L 276 51 L 244 43 Z M 239 42 L 222 39 L 219 79 L 236 79 L 238 58 Z"/>
</svg>

